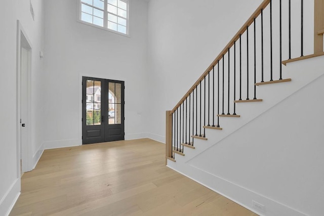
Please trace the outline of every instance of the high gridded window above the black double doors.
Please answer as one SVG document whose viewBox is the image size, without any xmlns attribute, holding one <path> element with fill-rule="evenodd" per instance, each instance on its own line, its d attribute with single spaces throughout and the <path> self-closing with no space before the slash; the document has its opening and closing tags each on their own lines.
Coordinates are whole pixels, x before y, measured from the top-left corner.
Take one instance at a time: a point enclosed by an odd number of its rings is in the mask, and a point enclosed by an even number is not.
<svg viewBox="0 0 324 216">
<path fill-rule="evenodd" d="M 80 0 L 80 20 L 128 34 L 128 8 L 127 0 Z"/>
</svg>

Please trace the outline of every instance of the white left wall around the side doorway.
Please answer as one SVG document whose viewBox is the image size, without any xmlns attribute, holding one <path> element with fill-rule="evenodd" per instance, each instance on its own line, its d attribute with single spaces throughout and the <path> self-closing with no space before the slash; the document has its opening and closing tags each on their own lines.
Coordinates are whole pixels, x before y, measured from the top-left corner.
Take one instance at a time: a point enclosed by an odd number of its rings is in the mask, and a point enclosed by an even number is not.
<svg viewBox="0 0 324 216">
<path fill-rule="evenodd" d="M 17 155 L 17 131 L 18 122 L 16 115 L 17 84 L 16 84 L 16 49 L 17 49 L 17 19 L 21 21 L 32 46 L 32 66 L 31 66 L 31 95 L 29 98 L 33 105 L 31 106 L 30 132 L 31 149 L 35 155 L 42 145 L 42 121 L 39 121 L 38 110 L 35 110 L 40 103 L 39 97 L 39 76 L 43 72 L 43 63 L 39 59 L 39 51 L 43 49 L 43 1 L 32 1 L 35 21 L 32 20 L 29 12 L 29 1 L 15 0 L 3 1 L 0 26 L 0 75 L 2 84 L 1 92 L 11 94 L 1 94 L 2 106 L 0 107 L 0 215 L 6 215 L 11 205 L 18 197 L 20 191 L 20 176 Z M 38 134 L 39 133 L 39 134 Z M 37 156 L 37 154 L 36 154 Z M 37 158 L 30 158 L 36 162 Z M 34 160 L 34 161 L 33 161 Z M 18 169 L 18 170 L 17 170 Z"/>
</svg>

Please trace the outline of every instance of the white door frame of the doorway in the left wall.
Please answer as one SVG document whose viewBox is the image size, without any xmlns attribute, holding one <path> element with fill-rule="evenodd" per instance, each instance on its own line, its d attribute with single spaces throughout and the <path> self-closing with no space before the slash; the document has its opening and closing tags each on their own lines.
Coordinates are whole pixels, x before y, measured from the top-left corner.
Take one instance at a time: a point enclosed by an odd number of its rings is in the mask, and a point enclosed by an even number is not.
<svg viewBox="0 0 324 216">
<path fill-rule="evenodd" d="M 23 42 L 22 42 L 23 41 Z M 28 67 L 26 70 L 26 88 L 27 88 L 27 102 L 26 102 L 26 131 L 25 145 L 21 145 L 21 48 L 24 48 L 28 51 Z M 17 62 L 16 62 L 16 134 L 17 134 L 17 178 L 21 177 L 20 166 L 22 166 L 22 172 L 32 170 L 32 148 L 30 142 L 30 131 L 31 131 L 31 55 L 32 55 L 32 46 L 31 42 L 28 39 L 26 32 L 24 31 L 22 24 L 17 20 Z M 20 165 L 20 160 L 22 160 L 22 165 Z"/>
</svg>

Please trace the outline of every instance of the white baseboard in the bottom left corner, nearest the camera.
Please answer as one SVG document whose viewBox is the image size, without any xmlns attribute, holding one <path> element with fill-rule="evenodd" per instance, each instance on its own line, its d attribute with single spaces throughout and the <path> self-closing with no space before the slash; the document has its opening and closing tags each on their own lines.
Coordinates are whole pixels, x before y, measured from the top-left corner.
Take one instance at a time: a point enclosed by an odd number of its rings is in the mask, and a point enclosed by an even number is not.
<svg viewBox="0 0 324 216">
<path fill-rule="evenodd" d="M 20 196 L 20 178 L 16 179 L 0 200 L 0 215 L 8 216 Z"/>
</svg>

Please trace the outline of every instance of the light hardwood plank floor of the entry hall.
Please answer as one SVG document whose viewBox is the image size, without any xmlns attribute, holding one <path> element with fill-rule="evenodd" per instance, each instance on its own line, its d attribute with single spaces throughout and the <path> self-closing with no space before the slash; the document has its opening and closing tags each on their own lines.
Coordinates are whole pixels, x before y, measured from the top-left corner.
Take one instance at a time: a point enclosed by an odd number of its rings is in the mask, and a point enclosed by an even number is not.
<svg viewBox="0 0 324 216">
<path fill-rule="evenodd" d="M 46 150 L 10 215 L 257 215 L 165 166 L 150 139 Z"/>
</svg>

